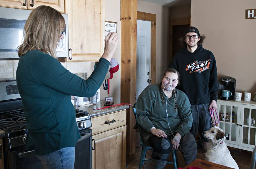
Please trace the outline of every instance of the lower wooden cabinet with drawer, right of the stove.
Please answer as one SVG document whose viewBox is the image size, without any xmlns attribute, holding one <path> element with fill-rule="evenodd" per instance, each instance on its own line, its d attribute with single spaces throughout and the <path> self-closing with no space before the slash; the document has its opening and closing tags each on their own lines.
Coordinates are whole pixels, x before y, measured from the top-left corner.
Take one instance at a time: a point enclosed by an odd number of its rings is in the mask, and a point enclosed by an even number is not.
<svg viewBox="0 0 256 169">
<path fill-rule="evenodd" d="M 92 139 L 92 169 L 125 169 L 126 110 L 92 117 Z"/>
</svg>

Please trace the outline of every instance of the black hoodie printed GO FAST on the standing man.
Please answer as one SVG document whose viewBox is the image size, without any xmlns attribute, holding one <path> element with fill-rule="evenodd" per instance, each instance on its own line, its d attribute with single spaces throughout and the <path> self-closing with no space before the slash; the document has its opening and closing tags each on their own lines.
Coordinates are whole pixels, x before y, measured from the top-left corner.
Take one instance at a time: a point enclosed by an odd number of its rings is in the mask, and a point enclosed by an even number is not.
<svg viewBox="0 0 256 169">
<path fill-rule="evenodd" d="M 169 67 L 180 72 L 180 86 L 191 105 L 217 101 L 217 67 L 214 55 L 199 45 L 194 53 L 187 46 L 172 58 Z"/>
</svg>

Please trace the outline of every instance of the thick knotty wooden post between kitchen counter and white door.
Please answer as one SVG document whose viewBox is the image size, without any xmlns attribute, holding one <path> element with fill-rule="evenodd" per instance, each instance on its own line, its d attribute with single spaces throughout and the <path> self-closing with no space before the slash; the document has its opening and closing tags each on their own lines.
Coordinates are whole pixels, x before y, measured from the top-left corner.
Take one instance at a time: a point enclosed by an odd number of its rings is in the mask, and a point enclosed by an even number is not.
<svg viewBox="0 0 256 169">
<path fill-rule="evenodd" d="M 136 101 L 137 0 L 121 0 L 121 102 Z M 127 154 L 135 153 L 135 117 L 127 109 Z"/>
</svg>

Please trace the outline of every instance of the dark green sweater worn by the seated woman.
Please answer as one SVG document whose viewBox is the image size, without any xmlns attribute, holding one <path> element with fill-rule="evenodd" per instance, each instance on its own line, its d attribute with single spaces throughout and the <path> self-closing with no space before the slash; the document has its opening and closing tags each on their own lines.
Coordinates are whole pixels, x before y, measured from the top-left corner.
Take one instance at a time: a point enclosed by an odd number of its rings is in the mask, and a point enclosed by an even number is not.
<svg viewBox="0 0 256 169">
<path fill-rule="evenodd" d="M 178 132 L 183 137 L 190 130 L 193 118 L 187 95 L 181 90 L 176 89 L 176 91 L 177 109 L 175 109 L 174 94 L 172 94 L 167 101 L 168 119 L 172 132 Z M 147 132 L 155 126 L 156 129 L 163 130 L 166 135 L 172 135 L 167 124 L 166 98 L 163 90 L 159 88 L 159 83 L 147 86 L 138 97 L 135 105 L 136 121 Z"/>
</svg>

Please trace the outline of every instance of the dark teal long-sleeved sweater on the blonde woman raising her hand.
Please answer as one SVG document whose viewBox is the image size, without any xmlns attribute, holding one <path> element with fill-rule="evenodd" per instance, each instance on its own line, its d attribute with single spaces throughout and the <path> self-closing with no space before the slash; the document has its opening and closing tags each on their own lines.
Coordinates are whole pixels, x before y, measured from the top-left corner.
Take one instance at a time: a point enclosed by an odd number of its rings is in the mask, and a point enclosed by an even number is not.
<svg viewBox="0 0 256 169">
<path fill-rule="evenodd" d="M 20 57 L 16 80 L 27 120 L 27 150 L 45 155 L 76 146 L 80 133 L 70 95 L 95 95 L 109 65 L 101 58 L 92 75 L 83 80 L 38 50 Z"/>
</svg>

